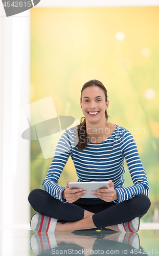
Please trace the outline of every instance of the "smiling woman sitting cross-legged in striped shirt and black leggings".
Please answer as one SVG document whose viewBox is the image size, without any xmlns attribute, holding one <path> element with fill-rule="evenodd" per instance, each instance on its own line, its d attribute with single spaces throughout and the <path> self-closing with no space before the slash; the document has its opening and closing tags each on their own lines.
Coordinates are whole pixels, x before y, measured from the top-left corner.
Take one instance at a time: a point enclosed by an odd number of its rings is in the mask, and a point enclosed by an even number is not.
<svg viewBox="0 0 159 256">
<path fill-rule="evenodd" d="M 84 115 L 77 127 L 59 139 L 43 190 L 29 195 L 31 206 L 39 212 L 31 219 L 36 232 L 74 231 L 109 228 L 137 232 L 140 218 L 150 207 L 149 185 L 132 135 L 123 127 L 107 121 L 107 90 L 98 80 L 90 80 L 81 90 Z M 109 188 L 93 191 L 95 199 L 81 198 L 86 191 L 57 184 L 71 156 L 78 182 L 108 181 Z M 132 186 L 124 187 L 124 158 Z M 61 220 L 58 221 L 57 220 Z M 63 222 L 64 221 L 64 222 Z"/>
</svg>

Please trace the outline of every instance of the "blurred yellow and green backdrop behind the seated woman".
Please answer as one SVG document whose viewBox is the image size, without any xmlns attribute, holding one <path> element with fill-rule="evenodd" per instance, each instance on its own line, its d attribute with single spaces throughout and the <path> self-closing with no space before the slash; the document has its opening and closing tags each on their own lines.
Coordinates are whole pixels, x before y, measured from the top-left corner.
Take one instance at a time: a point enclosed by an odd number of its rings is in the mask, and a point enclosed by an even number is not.
<svg viewBox="0 0 159 256">
<path fill-rule="evenodd" d="M 104 84 L 108 121 L 133 135 L 148 177 L 152 204 L 144 222 L 153 221 L 159 200 L 158 14 L 159 7 L 31 9 L 31 102 L 51 96 L 57 115 L 73 116 L 78 124 L 83 84 Z M 32 140 L 31 190 L 42 188 L 51 162 Z M 129 186 L 126 162 L 125 169 Z M 67 180 L 77 180 L 71 158 L 58 184 Z"/>
</svg>

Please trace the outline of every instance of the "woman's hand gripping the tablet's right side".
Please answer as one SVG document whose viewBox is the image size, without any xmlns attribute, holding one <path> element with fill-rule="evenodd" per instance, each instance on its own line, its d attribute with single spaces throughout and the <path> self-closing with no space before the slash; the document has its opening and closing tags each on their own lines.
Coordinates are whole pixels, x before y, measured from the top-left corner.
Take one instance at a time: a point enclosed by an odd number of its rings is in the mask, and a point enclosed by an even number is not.
<svg viewBox="0 0 159 256">
<path fill-rule="evenodd" d="M 109 188 L 100 188 L 97 191 L 92 191 L 92 195 L 100 198 L 105 202 L 112 202 L 113 200 L 118 199 L 118 194 L 116 189 L 113 187 L 113 182 L 111 180 L 108 181 Z"/>
</svg>

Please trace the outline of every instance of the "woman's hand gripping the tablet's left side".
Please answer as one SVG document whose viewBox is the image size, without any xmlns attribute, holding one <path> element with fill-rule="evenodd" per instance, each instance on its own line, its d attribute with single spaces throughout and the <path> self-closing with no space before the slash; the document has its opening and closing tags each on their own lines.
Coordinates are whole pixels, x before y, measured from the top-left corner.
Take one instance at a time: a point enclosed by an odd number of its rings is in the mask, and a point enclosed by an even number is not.
<svg viewBox="0 0 159 256">
<path fill-rule="evenodd" d="M 66 188 L 62 192 L 63 199 L 66 199 L 69 203 L 73 203 L 82 196 L 86 195 L 86 190 L 82 190 L 82 188 L 70 189 L 69 182 L 70 180 L 67 181 Z"/>
</svg>

